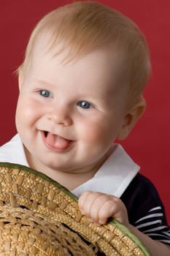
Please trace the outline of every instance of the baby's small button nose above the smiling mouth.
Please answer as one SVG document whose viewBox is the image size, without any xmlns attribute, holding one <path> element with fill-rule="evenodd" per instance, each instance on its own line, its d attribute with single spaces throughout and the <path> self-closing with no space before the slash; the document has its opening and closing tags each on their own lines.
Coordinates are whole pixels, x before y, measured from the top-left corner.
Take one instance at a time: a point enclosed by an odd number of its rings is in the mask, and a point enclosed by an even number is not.
<svg viewBox="0 0 170 256">
<path fill-rule="evenodd" d="M 70 111 L 66 110 L 64 107 L 50 110 L 50 112 L 47 114 L 47 118 L 53 121 L 55 124 L 61 124 L 66 127 L 72 125 Z"/>
</svg>

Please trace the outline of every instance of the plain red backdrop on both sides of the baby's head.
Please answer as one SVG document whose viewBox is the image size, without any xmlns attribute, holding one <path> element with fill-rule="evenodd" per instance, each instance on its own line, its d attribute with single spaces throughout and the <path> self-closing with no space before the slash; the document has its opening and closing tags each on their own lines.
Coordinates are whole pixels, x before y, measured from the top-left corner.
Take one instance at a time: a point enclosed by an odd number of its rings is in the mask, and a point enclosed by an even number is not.
<svg viewBox="0 0 170 256">
<path fill-rule="evenodd" d="M 0 3 L 1 126 L 0 145 L 15 135 L 18 80 L 13 72 L 23 60 L 36 22 L 55 7 L 72 1 L 6 0 Z M 101 0 L 123 12 L 142 29 L 150 45 L 152 78 L 144 95 L 147 111 L 123 146 L 157 187 L 170 222 L 170 1 Z"/>
</svg>

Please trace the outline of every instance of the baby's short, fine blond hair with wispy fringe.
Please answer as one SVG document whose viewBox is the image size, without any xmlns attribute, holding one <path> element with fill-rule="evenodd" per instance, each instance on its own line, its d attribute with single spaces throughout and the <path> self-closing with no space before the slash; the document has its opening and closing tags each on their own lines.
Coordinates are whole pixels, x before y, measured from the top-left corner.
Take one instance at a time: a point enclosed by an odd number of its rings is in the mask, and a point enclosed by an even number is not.
<svg viewBox="0 0 170 256">
<path fill-rule="evenodd" d="M 19 73 L 26 71 L 36 39 L 44 31 L 50 32 L 49 50 L 60 42 L 63 46 L 56 54 L 69 48 L 65 61 L 110 45 L 120 48 L 127 58 L 131 100 L 142 94 L 150 77 L 150 53 L 138 26 L 120 12 L 93 1 L 78 1 L 49 12 L 31 34 Z"/>
</svg>

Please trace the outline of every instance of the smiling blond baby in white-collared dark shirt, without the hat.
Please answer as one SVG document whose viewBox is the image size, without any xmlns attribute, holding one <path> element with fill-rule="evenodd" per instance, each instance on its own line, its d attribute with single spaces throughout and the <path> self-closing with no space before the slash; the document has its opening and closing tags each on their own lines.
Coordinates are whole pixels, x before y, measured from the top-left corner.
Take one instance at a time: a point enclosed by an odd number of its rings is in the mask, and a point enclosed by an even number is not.
<svg viewBox="0 0 170 256">
<path fill-rule="evenodd" d="M 124 140 L 145 110 L 150 54 L 139 28 L 90 1 L 47 14 L 18 69 L 18 135 L 1 162 L 45 173 L 79 197 L 83 214 L 113 217 L 152 255 L 170 255 L 170 228 L 155 187 L 113 143 Z"/>
</svg>

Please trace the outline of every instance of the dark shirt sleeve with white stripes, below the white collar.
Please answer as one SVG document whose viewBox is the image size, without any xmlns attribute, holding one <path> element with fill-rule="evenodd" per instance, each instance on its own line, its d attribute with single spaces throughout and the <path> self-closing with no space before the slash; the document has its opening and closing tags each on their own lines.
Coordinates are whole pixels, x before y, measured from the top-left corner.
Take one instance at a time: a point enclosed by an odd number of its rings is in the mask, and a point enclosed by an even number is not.
<svg viewBox="0 0 170 256">
<path fill-rule="evenodd" d="M 131 225 L 153 240 L 170 245 L 170 227 L 163 203 L 151 181 L 137 174 L 120 198 L 128 210 Z"/>
</svg>

